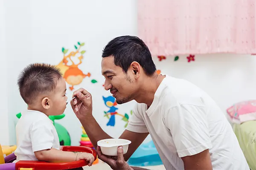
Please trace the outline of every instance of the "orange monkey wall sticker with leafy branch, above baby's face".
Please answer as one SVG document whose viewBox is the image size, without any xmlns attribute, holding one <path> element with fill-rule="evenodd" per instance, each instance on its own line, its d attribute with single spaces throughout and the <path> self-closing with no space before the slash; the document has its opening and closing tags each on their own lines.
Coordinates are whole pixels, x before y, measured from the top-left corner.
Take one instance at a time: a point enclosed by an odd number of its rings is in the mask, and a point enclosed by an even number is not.
<svg viewBox="0 0 256 170">
<path fill-rule="evenodd" d="M 74 85 L 79 85 L 85 77 L 90 77 L 90 73 L 84 74 L 78 66 L 82 63 L 84 58 L 84 50 L 81 47 L 84 46 L 84 42 L 77 42 L 78 45 L 74 45 L 75 51 L 71 51 L 68 54 L 68 49 L 62 48 L 63 59 L 56 65 L 62 73 L 63 78 L 70 85 L 70 90 L 73 91 Z M 78 63 L 74 61 L 78 59 Z"/>
</svg>

